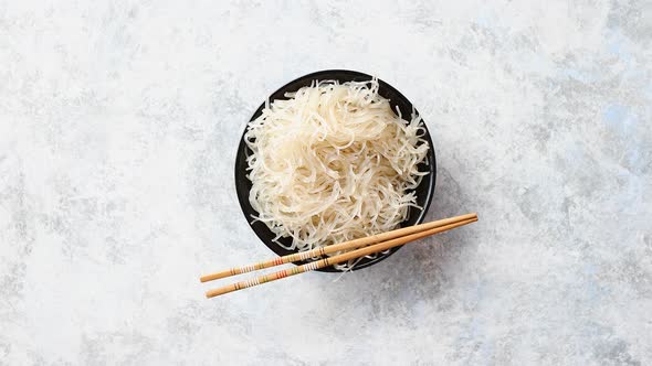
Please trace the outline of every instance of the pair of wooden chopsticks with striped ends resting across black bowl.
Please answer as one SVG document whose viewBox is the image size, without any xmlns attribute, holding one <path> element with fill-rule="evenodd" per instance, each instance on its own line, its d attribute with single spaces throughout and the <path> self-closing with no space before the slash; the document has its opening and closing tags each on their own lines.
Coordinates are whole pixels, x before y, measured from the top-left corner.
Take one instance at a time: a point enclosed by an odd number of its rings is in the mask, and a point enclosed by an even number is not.
<svg viewBox="0 0 652 366">
<path fill-rule="evenodd" d="M 288 277 L 288 276 L 294 276 L 294 274 L 298 274 L 298 273 L 303 273 L 303 272 L 307 272 L 307 271 L 313 271 L 316 269 L 338 265 L 338 263 L 348 261 L 350 259 L 356 259 L 356 258 L 365 257 L 365 256 L 368 256 L 368 255 L 371 255 L 375 252 L 383 251 L 383 250 L 387 250 L 387 249 L 390 249 L 393 247 L 398 247 L 398 246 L 408 244 L 408 243 L 417 240 L 417 239 L 421 239 L 421 238 L 424 238 L 424 237 L 428 237 L 428 236 L 431 236 L 434 234 L 450 230 L 455 227 L 471 224 L 476 220 L 477 220 L 477 214 L 473 213 L 473 214 L 466 214 L 466 215 L 455 216 L 455 217 L 451 217 L 451 218 L 444 218 L 444 219 L 440 219 L 440 220 L 435 220 L 435 222 L 431 222 L 431 223 L 427 223 L 427 224 L 403 227 L 400 229 L 396 229 L 396 230 L 391 230 L 391 232 L 387 232 L 387 233 L 382 233 L 382 234 L 378 234 L 378 235 L 372 235 L 372 236 L 365 237 L 365 238 L 359 238 L 359 239 L 355 239 L 355 240 L 350 240 L 350 241 L 345 241 L 345 243 L 335 244 L 335 245 L 330 245 L 330 246 L 326 246 L 326 247 L 320 247 L 320 248 L 313 249 L 313 250 L 293 254 L 290 256 L 283 256 L 283 257 L 265 260 L 265 261 L 254 263 L 254 265 L 248 265 L 244 267 L 234 267 L 234 268 L 221 271 L 221 272 L 202 276 L 200 278 L 200 281 L 208 282 L 208 281 L 212 281 L 212 280 L 217 280 L 217 279 L 221 279 L 221 278 L 227 278 L 230 276 L 236 276 L 236 274 L 241 274 L 241 273 L 251 272 L 254 270 L 281 266 L 284 263 L 290 263 L 290 262 L 299 261 L 299 260 L 305 260 L 308 258 L 325 257 L 326 255 L 337 252 L 337 251 L 356 249 L 356 250 L 347 251 L 347 252 L 336 255 L 333 257 L 326 257 L 323 259 L 318 259 L 318 260 L 312 261 L 309 263 L 297 266 L 297 267 L 294 267 L 291 269 L 281 270 L 281 271 L 277 271 L 277 272 L 274 272 L 271 274 L 260 276 L 260 277 L 246 280 L 246 281 L 240 281 L 236 283 L 229 284 L 229 286 L 224 286 L 219 289 L 210 290 L 206 293 L 206 297 L 210 299 L 210 298 L 213 298 L 213 297 L 217 297 L 220 294 L 246 289 L 246 288 L 262 284 L 265 282 L 280 280 L 280 279 Z"/>
</svg>

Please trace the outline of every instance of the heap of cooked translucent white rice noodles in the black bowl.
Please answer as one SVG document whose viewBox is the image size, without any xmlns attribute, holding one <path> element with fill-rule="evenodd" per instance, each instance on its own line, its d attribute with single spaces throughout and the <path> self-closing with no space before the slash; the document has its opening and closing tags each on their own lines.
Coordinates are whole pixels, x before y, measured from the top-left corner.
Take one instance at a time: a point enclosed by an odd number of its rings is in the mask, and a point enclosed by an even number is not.
<svg viewBox="0 0 652 366">
<path fill-rule="evenodd" d="M 397 116 L 378 82 L 314 83 L 287 100 L 267 103 L 248 126 L 257 219 L 288 249 L 396 228 L 417 206 L 416 189 L 429 146 L 419 116 Z M 398 111 L 398 110 L 397 110 Z"/>
</svg>

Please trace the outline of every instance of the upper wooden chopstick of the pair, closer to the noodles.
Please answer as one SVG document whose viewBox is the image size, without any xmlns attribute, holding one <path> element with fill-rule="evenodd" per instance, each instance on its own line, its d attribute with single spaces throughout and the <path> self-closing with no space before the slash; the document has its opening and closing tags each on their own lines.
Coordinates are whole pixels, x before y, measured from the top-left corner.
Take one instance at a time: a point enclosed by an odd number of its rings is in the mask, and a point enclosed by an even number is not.
<svg viewBox="0 0 652 366">
<path fill-rule="evenodd" d="M 410 235 L 410 234 L 414 234 L 414 233 L 420 233 L 423 230 L 432 229 L 435 227 L 441 227 L 441 226 L 444 226 L 448 224 L 456 223 L 456 222 L 464 220 L 464 219 L 471 219 L 471 218 L 477 218 L 477 214 L 473 213 L 473 214 L 466 214 L 466 215 L 460 215 L 460 216 L 455 216 L 455 217 L 439 219 L 435 222 L 430 222 L 430 223 L 416 225 L 416 226 L 403 227 L 400 229 L 396 229 L 396 230 L 391 230 L 391 232 L 387 232 L 387 233 L 382 233 L 382 234 L 378 234 L 378 235 L 372 235 L 372 236 L 365 237 L 365 238 L 359 238 L 359 239 L 355 239 L 355 240 L 350 240 L 350 241 L 345 241 L 345 243 L 335 244 L 335 245 L 330 245 L 330 246 L 326 246 L 326 247 L 320 247 L 320 248 L 313 249 L 313 250 L 307 250 L 307 251 L 297 252 L 297 254 L 293 254 L 293 255 L 288 255 L 288 256 L 283 256 L 283 257 L 278 257 L 278 258 L 274 258 L 274 259 L 269 259 L 269 260 L 261 261 L 261 262 L 253 263 L 253 265 L 246 265 L 243 267 L 234 267 L 234 268 L 221 271 L 221 272 L 215 272 L 215 273 L 202 276 L 199 280 L 201 282 L 208 282 L 208 281 L 212 281 L 212 280 L 217 280 L 217 279 L 221 279 L 221 278 L 227 278 L 227 277 L 231 277 L 231 276 L 235 276 L 235 274 L 242 274 L 242 273 L 255 271 L 259 269 L 264 269 L 264 268 L 270 268 L 270 267 L 275 267 L 275 266 L 281 266 L 281 265 L 294 262 L 294 261 L 305 260 L 308 258 L 324 257 L 326 255 L 329 255 L 329 254 L 333 254 L 336 251 L 355 249 L 355 248 L 359 248 L 359 247 L 368 246 L 371 244 L 377 244 L 377 243 L 395 239 L 395 238 L 398 238 L 401 236 L 406 236 L 406 235 Z"/>
</svg>

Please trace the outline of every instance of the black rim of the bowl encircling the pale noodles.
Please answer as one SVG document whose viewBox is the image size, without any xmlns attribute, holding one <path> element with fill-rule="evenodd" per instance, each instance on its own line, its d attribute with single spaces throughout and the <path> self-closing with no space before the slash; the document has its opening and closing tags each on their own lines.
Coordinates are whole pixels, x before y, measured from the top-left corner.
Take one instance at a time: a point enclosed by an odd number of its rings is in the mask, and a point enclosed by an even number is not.
<svg viewBox="0 0 652 366">
<path fill-rule="evenodd" d="M 234 161 L 234 177 L 235 177 L 235 191 L 236 191 L 236 195 L 238 195 L 238 202 L 240 204 L 240 208 L 242 211 L 242 214 L 244 215 L 246 223 L 249 224 L 249 226 L 251 227 L 251 229 L 254 232 L 254 234 L 257 236 L 257 238 L 267 247 L 270 248 L 274 254 L 276 254 L 277 256 L 285 256 L 288 254 L 293 254 L 293 252 L 297 252 L 296 250 L 288 250 L 285 249 L 283 247 L 281 247 L 280 245 L 275 244 L 272 240 L 267 240 L 263 237 L 263 233 L 261 233 L 261 230 L 267 230 L 269 233 L 272 233 L 266 225 L 262 224 L 261 225 L 264 228 L 256 228 L 254 226 L 255 220 L 250 216 L 250 214 L 248 214 L 248 211 L 251 208 L 251 211 L 254 211 L 251 205 L 249 204 L 249 190 L 244 190 L 242 187 L 242 184 L 239 184 L 239 181 L 244 177 L 245 180 L 248 180 L 246 177 L 246 173 L 245 172 L 241 172 L 239 170 L 239 165 L 242 164 L 242 162 L 244 161 L 244 164 L 246 164 L 246 154 L 244 153 L 249 148 L 246 147 L 246 143 L 244 142 L 244 136 L 246 133 L 246 128 L 249 126 L 249 122 L 251 122 L 252 120 L 254 120 L 255 118 L 257 118 L 261 114 L 262 110 L 265 107 L 265 104 L 267 103 L 267 100 L 271 99 L 272 96 L 277 95 L 280 93 L 291 93 L 291 92 L 296 92 L 296 90 L 286 90 L 290 86 L 294 85 L 295 83 L 302 83 L 306 79 L 311 79 L 311 80 L 339 80 L 340 83 L 345 83 L 346 80 L 340 80 L 337 77 L 333 77 L 333 76 L 328 76 L 328 75 L 333 75 L 333 74 L 339 74 L 339 76 L 341 76 L 341 74 L 346 74 L 348 77 L 354 78 L 354 77 L 358 77 L 358 78 L 368 78 L 371 79 L 372 76 L 368 75 L 366 73 L 361 73 L 361 72 L 357 72 L 357 71 L 351 71 L 351 69 L 339 69 L 339 68 L 334 68 L 334 69 L 323 69 L 323 71 L 318 71 L 318 72 L 314 72 L 314 73 L 309 73 L 299 77 L 296 77 L 287 83 L 285 83 L 283 86 L 281 86 L 280 88 L 277 88 L 275 92 L 271 93 L 265 100 L 263 100 L 263 103 L 260 105 L 260 107 L 257 107 L 255 109 L 255 111 L 251 115 L 251 118 L 249 119 L 249 121 L 246 122 L 246 125 L 244 126 L 244 130 L 240 137 L 240 142 L 238 144 L 238 151 L 236 151 L 236 155 L 235 155 L 235 161 Z M 414 114 L 421 116 L 421 114 L 419 114 L 419 111 L 417 110 L 417 108 L 414 107 L 414 105 L 410 101 L 410 99 L 408 99 L 402 93 L 400 93 L 398 89 L 396 89 L 393 86 L 391 86 L 390 84 L 388 84 L 387 82 L 377 78 L 378 83 L 380 84 L 380 89 L 387 89 L 390 90 L 395 96 L 397 96 L 399 99 L 402 99 L 403 103 L 406 103 L 407 105 L 412 107 L 412 110 L 414 111 Z M 421 224 L 423 223 L 423 220 L 425 219 L 425 215 L 428 214 L 428 211 L 430 208 L 430 205 L 432 203 L 432 198 L 434 196 L 434 187 L 435 187 L 435 183 L 437 183 L 437 154 L 434 151 L 434 144 L 432 143 L 432 138 L 430 134 L 430 131 L 428 130 L 428 126 L 425 125 L 425 121 L 423 120 L 423 118 L 421 118 L 421 121 L 423 123 L 424 130 L 425 130 L 425 134 L 423 136 L 423 138 L 425 139 L 425 141 L 429 143 L 430 149 L 428 150 L 428 170 L 429 173 L 427 176 L 424 176 L 424 181 L 422 181 L 421 184 L 425 183 L 425 179 L 428 177 L 428 186 L 427 186 L 427 192 L 425 192 L 425 200 L 424 200 L 424 204 L 423 204 L 423 209 L 421 209 L 418 214 L 417 214 L 417 219 L 414 220 L 414 225 Z M 402 226 L 402 223 L 401 223 Z M 261 226 L 259 226 L 261 227 Z M 400 248 L 402 248 L 402 246 L 400 247 L 396 247 L 390 249 L 390 251 L 386 255 L 381 255 L 378 256 L 374 259 L 369 259 L 365 262 L 361 262 L 359 265 L 356 265 L 353 269 L 350 269 L 350 271 L 354 270 L 359 270 L 362 268 L 367 268 L 369 266 L 376 265 L 377 262 L 380 262 L 385 259 L 387 259 L 388 257 L 390 257 L 392 254 L 395 254 L 397 250 L 399 250 Z M 303 265 L 306 261 L 296 261 L 293 262 L 294 265 Z M 317 271 L 320 272 L 337 272 L 337 273 L 341 273 L 343 271 L 337 270 L 333 267 L 327 267 L 327 268 L 322 268 L 322 269 L 317 269 Z"/>
</svg>

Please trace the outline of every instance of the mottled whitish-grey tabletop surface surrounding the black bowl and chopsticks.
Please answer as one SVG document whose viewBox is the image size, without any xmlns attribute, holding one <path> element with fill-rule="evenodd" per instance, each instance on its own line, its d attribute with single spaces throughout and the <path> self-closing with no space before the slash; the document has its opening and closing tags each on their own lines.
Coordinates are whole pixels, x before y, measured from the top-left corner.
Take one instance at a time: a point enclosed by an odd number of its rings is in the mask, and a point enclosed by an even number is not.
<svg viewBox="0 0 652 366">
<path fill-rule="evenodd" d="M 652 363 L 650 1 L 0 1 L 0 365 Z M 372 268 L 211 301 L 270 256 L 232 180 L 272 90 L 353 68 L 439 158 Z"/>
</svg>

